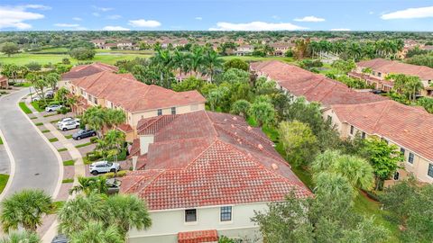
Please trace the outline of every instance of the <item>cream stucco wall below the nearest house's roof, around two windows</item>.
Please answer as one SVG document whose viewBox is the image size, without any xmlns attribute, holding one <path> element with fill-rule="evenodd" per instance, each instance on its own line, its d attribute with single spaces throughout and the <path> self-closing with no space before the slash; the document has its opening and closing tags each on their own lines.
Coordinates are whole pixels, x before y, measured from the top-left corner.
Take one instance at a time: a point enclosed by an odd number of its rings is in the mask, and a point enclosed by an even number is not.
<svg viewBox="0 0 433 243">
<path fill-rule="evenodd" d="M 185 211 L 151 211 L 151 229 L 129 232 L 128 242 L 175 243 L 179 232 L 217 229 L 218 235 L 230 238 L 258 239 L 262 242 L 258 227 L 251 221 L 254 211 L 264 211 L 266 203 L 232 205 L 232 220 L 220 221 L 220 207 L 197 208 L 197 221 L 185 222 Z"/>
</svg>

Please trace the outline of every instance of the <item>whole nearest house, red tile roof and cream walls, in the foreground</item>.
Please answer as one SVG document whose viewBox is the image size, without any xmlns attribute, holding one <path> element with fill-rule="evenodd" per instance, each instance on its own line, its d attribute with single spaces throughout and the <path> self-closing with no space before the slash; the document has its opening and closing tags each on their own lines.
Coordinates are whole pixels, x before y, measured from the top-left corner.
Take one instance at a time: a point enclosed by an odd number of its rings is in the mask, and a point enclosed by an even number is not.
<svg viewBox="0 0 433 243">
<path fill-rule="evenodd" d="M 122 178 L 121 193 L 147 203 L 152 227 L 131 229 L 130 243 L 263 241 L 254 211 L 290 192 L 312 195 L 263 131 L 240 116 L 167 114 L 139 121 L 137 132 L 130 154 L 139 170 Z"/>
</svg>

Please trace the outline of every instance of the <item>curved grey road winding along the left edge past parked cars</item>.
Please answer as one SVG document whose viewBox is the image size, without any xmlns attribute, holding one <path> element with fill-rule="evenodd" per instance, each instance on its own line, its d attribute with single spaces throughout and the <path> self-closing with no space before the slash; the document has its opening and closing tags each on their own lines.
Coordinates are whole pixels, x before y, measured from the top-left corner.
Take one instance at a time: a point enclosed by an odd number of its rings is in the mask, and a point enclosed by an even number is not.
<svg viewBox="0 0 433 243">
<path fill-rule="evenodd" d="M 0 130 L 14 157 L 12 184 L 5 197 L 28 188 L 53 195 L 60 186 L 58 156 L 18 106 L 25 94 L 29 94 L 27 88 L 0 97 Z"/>
</svg>

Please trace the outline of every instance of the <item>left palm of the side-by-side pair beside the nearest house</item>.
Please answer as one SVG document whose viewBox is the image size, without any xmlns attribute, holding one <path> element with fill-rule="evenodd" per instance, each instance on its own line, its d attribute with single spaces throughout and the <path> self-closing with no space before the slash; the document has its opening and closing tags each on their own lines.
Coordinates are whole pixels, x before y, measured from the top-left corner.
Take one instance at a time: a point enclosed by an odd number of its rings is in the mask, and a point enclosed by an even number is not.
<svg viewBox="0 0 433 243">
<path fill-rule="evenodd" d="M 57 214 L 59 219 L 59 232 L 70 236 L 78 232 L 90 221 L 104 222 L 109 216 L 102 194 L 90 193 L 88 196 L 78 195 L 66 202 Z"/>
</svg>

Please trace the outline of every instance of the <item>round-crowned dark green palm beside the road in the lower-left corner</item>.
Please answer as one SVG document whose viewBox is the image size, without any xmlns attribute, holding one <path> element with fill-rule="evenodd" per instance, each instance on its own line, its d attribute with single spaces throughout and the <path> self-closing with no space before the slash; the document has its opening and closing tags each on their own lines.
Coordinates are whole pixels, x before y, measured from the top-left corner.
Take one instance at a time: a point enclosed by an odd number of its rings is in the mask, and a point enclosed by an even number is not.
<svg viewBox="0 0 433 243">
<path fill-rule="evenodd" d="M 41 190 L 23 190 L 6 198 L 1 205 L 0 220 L 5 232 L 18 227 L 36 231 L 43 214 L 51 211 L 51 196 Z"/>
</svg>

